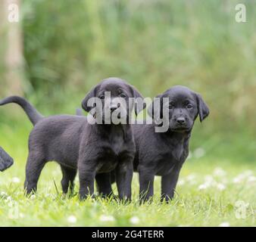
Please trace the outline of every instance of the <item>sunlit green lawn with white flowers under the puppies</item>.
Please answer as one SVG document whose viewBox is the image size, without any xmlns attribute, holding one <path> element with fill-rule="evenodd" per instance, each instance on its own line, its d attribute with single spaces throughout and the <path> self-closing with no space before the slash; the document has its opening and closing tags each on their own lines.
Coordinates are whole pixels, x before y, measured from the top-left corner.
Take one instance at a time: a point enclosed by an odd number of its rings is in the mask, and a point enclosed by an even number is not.
<svg viewBox="0 0 256 242">
<path fill-rule="evenodd" d="M 183 166 L 175 199 L 170 204 L 159 203 L 157 177 L 155 200 L 142 206 L 138 201 L 137 174 L 133 178 L 130 204 L 111 199 L 80 202 L 77 178 L 76 194 L 63 197 L 61 170 L 56 163 L 48 163 L 42 171 L 38 193 L 25 197 L 23 181 L 30 126 L 1 123 L 0 130 L 0 144 L 15 160 L 11 169 L 0 174 L 0 226 L 256 225 L 254 163 L 213 158 L 203 150 L 196 150 Z"/>
</svg>

